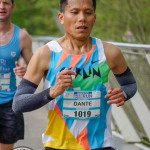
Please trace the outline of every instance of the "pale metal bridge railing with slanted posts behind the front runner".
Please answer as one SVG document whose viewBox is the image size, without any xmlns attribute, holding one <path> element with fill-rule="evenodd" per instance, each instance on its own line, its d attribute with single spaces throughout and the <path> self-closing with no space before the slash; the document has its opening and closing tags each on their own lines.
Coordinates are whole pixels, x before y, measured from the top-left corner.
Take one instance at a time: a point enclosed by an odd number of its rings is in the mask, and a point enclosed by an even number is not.
<svg viewBox="0 0 150 150">
<path fill-rule="evenodd" d="M 33 50 L 57 37 L 33 37 Z M 121 48 L 138 86 L 135 96 L 123 107 L 112 108 L 112 128 L 125 141 L 150 146 L 150 45 L 109 42 Z M 118 86 L 110 73 L 110 84 Z"/>
</svg>

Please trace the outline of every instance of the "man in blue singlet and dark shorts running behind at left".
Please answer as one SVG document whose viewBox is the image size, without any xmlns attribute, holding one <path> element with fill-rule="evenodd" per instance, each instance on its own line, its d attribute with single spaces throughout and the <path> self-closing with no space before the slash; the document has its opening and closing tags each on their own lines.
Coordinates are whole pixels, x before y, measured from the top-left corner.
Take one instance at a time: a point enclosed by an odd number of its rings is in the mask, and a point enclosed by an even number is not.
<svg viewBox="0 0 150 150">
<path fill-rule="evenodd" d="M 0 150 L 12 150 L 24 138 L 22 114 L 12 110 L 16 92 L 16 75 L 23 77 L 26 66 L 18 63 L 20 56 L 26 64 L 32 56 L 32 40 L 27 31 L 11 22 L 14 0 L 0 0 Z"/>
</svg>

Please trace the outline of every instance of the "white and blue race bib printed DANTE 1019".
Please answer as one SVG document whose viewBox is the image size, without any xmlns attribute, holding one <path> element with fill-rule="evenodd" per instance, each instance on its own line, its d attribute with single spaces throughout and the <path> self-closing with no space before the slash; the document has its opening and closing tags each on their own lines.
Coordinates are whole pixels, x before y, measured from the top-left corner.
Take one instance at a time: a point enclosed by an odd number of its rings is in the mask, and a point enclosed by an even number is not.
<svg viewBox="0 0 150 150">
<path fill-rule="evenodd" d="M 63 117 L 93 119 L 100 117 L 100 91 L 66 91 Z"/>
</svg>

